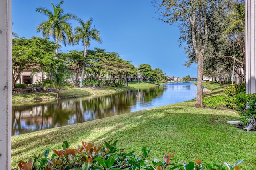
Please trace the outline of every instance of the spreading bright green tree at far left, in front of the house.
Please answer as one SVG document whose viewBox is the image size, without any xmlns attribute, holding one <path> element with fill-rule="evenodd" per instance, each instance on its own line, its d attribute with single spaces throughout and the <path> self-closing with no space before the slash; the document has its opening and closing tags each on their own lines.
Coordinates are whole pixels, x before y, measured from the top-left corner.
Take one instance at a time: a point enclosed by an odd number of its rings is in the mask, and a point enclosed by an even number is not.
<svg viewBox="0 0 256 170">
<path fill-rule="evenodd" d="M 12 88 L 24 70 L 37 72 L 54 68 L 54 49 L 58 47 L 54 42 L 39 37 L 12 39 Z"/>
</svg>

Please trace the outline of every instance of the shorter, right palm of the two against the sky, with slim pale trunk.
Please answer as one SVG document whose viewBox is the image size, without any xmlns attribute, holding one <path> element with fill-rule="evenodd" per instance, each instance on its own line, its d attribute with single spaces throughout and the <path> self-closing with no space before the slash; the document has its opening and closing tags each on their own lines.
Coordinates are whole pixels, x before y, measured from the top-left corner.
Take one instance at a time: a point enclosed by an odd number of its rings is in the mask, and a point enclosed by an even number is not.
<svg viewBox="0 0 256 170">
<path fill-rule="evenodd" d="M 79 43 L 79 41 L 82 41 L 82 45 L 84 45 L 84 57 L 87 54 L 87 47 L 91 44 L 91 39 L 94 41 L 97 41 L 99 43 L 102 43 L 100 38 L 100 31 L 98 31 L 95 28 L 91 29 L 92 26 L 92 18 L 89 18 L 86 22 L 82 19 L 78 19 L 78 22 L 80 23 L 80 27 L 75 27 L 75 35 L 74 35 L 74 42 Z M 80 79 L 80 87 L 82 86 L 82 80 L 84 76 L 84 67 L 82 68 L 82 74 Z"/>
</svg>

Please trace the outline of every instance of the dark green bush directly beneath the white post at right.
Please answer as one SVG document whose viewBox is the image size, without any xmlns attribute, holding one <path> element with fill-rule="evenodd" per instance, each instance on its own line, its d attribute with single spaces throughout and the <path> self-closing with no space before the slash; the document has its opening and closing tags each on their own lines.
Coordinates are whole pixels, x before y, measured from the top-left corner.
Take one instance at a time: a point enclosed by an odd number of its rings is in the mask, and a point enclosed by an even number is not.
<svg viewBox="0 0 256 170">
<path fill-rule="evenodd" d="M 256 129 L 256 94 L 240 93 L 236 95 L 237 109 L 241 115 L 241 123 L 251 125 Z"/>
</svg>

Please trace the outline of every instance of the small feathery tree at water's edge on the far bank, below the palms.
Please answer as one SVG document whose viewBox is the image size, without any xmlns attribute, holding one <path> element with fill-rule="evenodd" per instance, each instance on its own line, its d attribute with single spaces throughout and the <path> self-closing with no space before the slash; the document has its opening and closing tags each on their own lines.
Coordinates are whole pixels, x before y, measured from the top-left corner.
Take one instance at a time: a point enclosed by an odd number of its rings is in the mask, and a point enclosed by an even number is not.
<svg viewBox="0 0 256 170">
<path fill-rule="evenodd" d="M 44 80 L 44 84 L 52 88 L 56 88 L 57 95 L 56 98 L 59 98 L 59 92 L 61 88 L 70 89 L 70 86 L 75 87 L 74 84 L 70 83 L 71 73 L 63 65 L 58 67 L 55 71 L 52 71 L 52 80 Z"/>
</svg>

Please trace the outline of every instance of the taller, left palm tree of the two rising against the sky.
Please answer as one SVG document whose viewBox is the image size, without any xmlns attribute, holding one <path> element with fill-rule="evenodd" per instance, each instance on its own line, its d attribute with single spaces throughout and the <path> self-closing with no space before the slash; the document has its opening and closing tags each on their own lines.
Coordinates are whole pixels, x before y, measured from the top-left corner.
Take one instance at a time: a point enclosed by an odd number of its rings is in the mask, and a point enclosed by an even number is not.
<svg viewBox="0 0 256 170">
<path fill-rule="evenodd" d="M 64 4 L 62 0 L 56 6 L 52 3 L 53 12 L 45 7 L 36 8 L 36 12 L 42 13 L 48 17 L 48 21 L 40 23 L 40 25 L 36 27 L 36 31 L 42 31 L 42 35 L 45 38 L 52 36 L 56 44 L 60 41 L 66 46 L 67 43 L 71 42 L 73 36 L 72 27 L 67 21 L 76 19 L 76 16 L 71 13 L 63 14 L 63 9 L 61 8 L 62 4 Z M 58 53 L 58 49 L 55 49 L 55 52 Z"/>
</svg>

